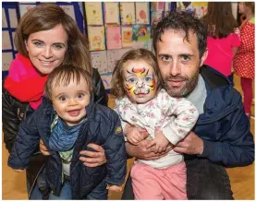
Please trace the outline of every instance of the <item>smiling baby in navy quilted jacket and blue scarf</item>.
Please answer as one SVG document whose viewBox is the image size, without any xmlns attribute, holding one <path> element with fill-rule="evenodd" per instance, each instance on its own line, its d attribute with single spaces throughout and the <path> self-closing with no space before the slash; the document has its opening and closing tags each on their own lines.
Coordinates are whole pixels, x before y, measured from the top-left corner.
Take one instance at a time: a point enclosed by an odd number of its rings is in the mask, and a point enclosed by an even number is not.
<svg viewBox="0 0 256 202">
<path fill-rule="evenodd" d="M 115 111 L 91 101 L 91 92 L 87 71 L 73 65 L 56 67 L 45 84 L 48 100 L 20 124 L 8 165 L 17 172 L 27 169 L 42 138 L 51 152 L 43 172 L 49 187 L 45 190 L 59 196 L 65 186 L 69 199 L 107 199 L 106 184 L 121 191 L 127 161 L 121 123 Z M 79 160 L 89 143 L 104 148 L 105 165 L 91 168 Z"/>
</svg>

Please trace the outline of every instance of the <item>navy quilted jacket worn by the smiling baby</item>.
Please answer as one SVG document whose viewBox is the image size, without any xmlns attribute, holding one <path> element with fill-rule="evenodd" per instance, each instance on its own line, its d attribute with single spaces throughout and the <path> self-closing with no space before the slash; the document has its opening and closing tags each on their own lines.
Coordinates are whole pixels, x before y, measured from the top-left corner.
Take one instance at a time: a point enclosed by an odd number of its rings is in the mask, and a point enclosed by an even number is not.
<svg viewBox="0 0 256 202">
<path fill-rule="evenodd" d="M 86 106 L 86 112 L 87 119 L 80 127 L 70 165 L 70 184 L 74 199 L 86 197 L 105 176 L 107 184 L 123 184 L 127 172 L 125 141 L 116 112 L 92 102 Z M 18 137 L 8 159 L 10 167 L 28 168 L 30 156 L 38 149 L 41 137 L 49 149 L 50 125 L 54 116 L 52 104 L 43 99 L 39 109 L 19 125 Z M 91 150 L 87 147 L 89 143 L 104 148 L 107 163 L 95 168 L 83 165 L 79 160 L 79 151 Z M 46 181 L 58 196 L 62 187 L 62 162 L 58 152 L 50 151 L 51 156 L 45 165 Z"/>
</svg>

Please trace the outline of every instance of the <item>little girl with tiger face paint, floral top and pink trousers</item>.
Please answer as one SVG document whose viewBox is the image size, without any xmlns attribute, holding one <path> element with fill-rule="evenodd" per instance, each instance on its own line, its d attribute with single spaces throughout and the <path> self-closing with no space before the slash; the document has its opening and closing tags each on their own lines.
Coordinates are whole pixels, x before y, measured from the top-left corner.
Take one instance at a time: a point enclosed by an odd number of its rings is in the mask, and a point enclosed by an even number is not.
<svg viewBox="0 0 256 202">
<path fill-rule="evenodd" d="M 113 72 L 112 94 L 123 129 L 127 124 L 146 129 L 155 152 L 175 146 L 199 116 L 190 101 L 170 97 L 161 84 L 157 60 L 145 49 L 124 54 Z M 139 144 L 143 138 L 138 133 L 127 140 Z M 185 162 L 173 150 L 158 160 L 136 160 L 131 178 L 136 199 L 187 199 Z"/>
</svg>

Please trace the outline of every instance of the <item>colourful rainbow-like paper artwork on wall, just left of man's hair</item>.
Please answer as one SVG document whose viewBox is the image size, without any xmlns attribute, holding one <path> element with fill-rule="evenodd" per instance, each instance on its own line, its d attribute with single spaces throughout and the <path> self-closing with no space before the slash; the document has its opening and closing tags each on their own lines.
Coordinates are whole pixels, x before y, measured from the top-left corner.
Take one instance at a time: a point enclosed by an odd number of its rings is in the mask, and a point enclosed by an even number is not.
<svg viewBox="0 0 256 202">
<path fill-rule="evenodd" d="M 151 39 L 151 27 L 149 25 L 132 26 L 133 41 L 143 42 Z"/>
</svg>

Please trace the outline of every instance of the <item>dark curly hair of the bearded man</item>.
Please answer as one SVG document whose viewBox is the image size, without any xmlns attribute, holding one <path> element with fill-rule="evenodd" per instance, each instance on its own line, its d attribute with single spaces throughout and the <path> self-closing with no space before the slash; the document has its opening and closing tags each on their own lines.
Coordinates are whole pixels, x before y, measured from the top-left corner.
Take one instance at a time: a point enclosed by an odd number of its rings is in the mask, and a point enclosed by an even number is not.
<svg viewBox="0 0 256 202">
<path fill-rule="evenodd" d="M 185 11 L 167 11 L 162 18 L 152 23 L 152 45 L 156 51 L 156 43 L 161 41 L 161 36 L 165 30 L 181 30 L 185 32 L 185 39 L 189 42 L 189 31 L 193 31 L 197 36 L 200 57 L 207 47 L 207 25 L 199 18 Z"/>
</svg>

